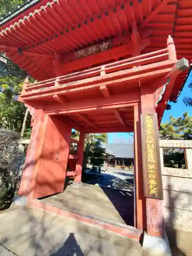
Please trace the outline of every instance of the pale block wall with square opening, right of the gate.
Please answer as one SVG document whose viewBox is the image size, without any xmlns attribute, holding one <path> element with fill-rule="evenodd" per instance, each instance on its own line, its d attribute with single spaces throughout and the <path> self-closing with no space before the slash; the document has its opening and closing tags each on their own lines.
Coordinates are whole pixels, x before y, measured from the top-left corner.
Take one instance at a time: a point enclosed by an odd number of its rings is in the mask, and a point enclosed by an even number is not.
<svg viewBox="0 0 192 256">
<path fill-rule="evenodd" d="M 163 147 L 183 148 L 188 169 L 163 166 Z M 192 232 L 192 141 L 160 140 L 166 227 Z"/>
</svg>

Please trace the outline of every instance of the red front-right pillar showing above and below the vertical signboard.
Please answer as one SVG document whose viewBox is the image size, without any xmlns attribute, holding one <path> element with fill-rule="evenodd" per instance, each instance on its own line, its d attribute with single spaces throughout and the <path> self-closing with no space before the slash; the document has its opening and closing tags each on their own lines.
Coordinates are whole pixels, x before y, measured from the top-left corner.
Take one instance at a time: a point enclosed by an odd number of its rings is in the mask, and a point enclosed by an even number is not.
<svg viewBox="0 0 192 256">
<path fill-rule="evenodd" d="M 141 87 L 141 113 L 156 113 L 153 91 L 150 87 Z M 164 236 L 163 200 L 146 198 L 147 234 Z"/>
</svg>

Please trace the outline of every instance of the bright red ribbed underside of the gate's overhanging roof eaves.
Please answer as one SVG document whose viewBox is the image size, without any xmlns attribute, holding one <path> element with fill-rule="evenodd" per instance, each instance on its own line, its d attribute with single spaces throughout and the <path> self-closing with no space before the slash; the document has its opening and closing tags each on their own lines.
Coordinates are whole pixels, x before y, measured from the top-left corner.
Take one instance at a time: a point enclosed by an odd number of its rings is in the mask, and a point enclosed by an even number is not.
<svg viewBox="0 0 192 256">
<path fill-rule="evenodd" d="M 103 38 L 130 32 L 135 19 L 139 30 L 150 33 L 151 43 L 143 54 L 164 48 L 167 36 L 172 35 L 178 59 L 191 59 L 191 13 L 191 0 L 29 0 L 0 21 L 0 45 L 18 48 L 18 52 L 6 50 L 7 56 L 35 79 L 44 80 L 55 76 L 52 58 L 28 56 L 23 50 L 49 55 L 50 49 L 60 49 L 65 55 Z M 185 72 L 178 75 L 171 101 L 180 94 L 184 77 Z"/>
</svg>

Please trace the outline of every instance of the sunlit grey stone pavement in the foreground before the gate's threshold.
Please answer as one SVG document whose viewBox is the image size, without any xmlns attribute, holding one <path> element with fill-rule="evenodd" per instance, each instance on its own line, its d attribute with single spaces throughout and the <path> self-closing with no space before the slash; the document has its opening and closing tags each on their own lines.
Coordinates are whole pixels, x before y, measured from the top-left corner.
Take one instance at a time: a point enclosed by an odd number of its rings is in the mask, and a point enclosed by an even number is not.
<svg viewBox="0 0 192 256">
<path fill-rule="evenodd" d="M 0 214 L 1 256 L 139 256 L 138 241 L 48 211 L 17 207 Z"/>
</svg>

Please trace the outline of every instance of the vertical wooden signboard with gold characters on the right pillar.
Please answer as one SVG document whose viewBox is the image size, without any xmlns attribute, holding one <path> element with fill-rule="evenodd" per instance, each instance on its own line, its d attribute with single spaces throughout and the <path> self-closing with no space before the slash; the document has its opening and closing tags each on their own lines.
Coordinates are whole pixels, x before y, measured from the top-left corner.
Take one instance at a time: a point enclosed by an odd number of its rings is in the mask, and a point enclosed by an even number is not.
<svg viewBox="0 0 192 256">
<path fill-rule="evenodd" d="M 141 114 L 144 196 L 163 199 L 157 114 Z"/>
</svg>

